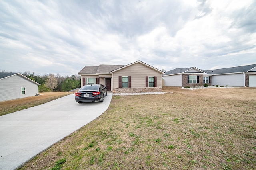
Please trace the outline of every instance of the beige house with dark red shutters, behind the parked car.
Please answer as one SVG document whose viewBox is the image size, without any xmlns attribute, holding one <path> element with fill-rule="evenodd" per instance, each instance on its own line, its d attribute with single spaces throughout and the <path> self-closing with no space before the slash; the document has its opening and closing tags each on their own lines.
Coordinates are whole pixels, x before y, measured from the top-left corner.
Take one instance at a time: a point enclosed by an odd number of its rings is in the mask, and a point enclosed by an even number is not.
<svg viewBox="0 0 256 170">
<path fill-rule="evenodd" d="M 162 91 L 162 72 L 142 61 L 128 65 L 85 66 L 80 72 L 81 87 L 86 84 L 104 84 L 116 93 Z"/>
</svg>

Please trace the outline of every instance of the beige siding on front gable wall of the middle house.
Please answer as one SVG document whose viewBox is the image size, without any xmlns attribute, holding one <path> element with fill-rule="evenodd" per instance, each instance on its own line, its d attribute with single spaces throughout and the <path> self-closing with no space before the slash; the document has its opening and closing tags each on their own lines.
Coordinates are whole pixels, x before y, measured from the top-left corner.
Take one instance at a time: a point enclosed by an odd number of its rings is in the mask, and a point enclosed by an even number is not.
<svg viewBox="0 0 256 170">
<path fill-rule="evenodd" d="M 148 77 L 157 77 L 157 87 L 162 88 L 162 74 L 144 66 L 143 64 L 136 63 L 113 72 L 112 82 L 113 88 L 118 88 L 118 77 L 119 76 L 131 76 L 132 78 L 132 88 L 145 88 L 146 87 L 146 76 Z"/>
</svg>

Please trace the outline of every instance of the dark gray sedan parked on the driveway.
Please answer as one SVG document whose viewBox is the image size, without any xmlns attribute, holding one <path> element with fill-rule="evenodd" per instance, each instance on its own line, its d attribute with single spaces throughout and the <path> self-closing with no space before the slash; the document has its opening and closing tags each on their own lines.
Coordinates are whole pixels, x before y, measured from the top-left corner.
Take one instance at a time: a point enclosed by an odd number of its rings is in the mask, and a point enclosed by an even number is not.
<svg viewBox="0 0 256 170">
<path fill-rule="evenodd" d="M 102 84 L 89 84 L 76 92 L 75 100 L 78 103 L 103 102 L 104 96 L 107 95 L 107 87 L 104 87 Z"/>
</svg>

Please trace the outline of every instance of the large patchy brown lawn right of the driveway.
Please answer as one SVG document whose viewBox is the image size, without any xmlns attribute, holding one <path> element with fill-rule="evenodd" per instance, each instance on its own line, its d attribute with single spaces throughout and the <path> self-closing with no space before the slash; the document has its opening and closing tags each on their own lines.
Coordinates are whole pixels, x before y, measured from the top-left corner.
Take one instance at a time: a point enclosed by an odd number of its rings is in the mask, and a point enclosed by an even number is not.
<svg viewBox="0 0 256 170">
<path fill-rule="evenodd" d="M 66 170 L 255 169 L 255 88 L 163 90 L 173 93 L 113 96 L 98 119 L 21 169 L 60 159 Z"/>
</svg>

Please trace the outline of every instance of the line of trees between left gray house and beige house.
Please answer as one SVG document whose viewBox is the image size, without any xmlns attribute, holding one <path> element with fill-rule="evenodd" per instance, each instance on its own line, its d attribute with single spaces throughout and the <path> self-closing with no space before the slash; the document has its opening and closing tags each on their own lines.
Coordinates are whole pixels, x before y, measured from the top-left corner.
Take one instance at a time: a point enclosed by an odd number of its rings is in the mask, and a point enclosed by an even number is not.
<svg viewBox="0 0 256 170">
<path fill-rule="evenodd" d="M 35 75 L 29 71 L 24 71 L 22 75 L 41 84 L 39 92 L 68 92 L 81 87 L 81 78 L 78 74 L 72 76 L 60 76 L 60 74 L 45 74 L 43 76 Z"/>
</svg>

